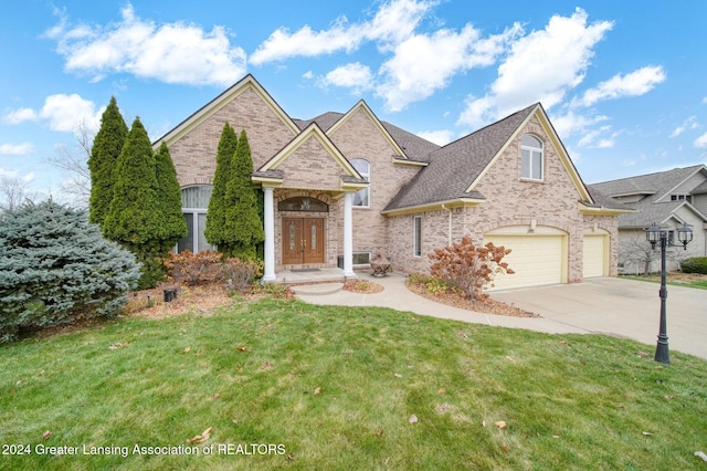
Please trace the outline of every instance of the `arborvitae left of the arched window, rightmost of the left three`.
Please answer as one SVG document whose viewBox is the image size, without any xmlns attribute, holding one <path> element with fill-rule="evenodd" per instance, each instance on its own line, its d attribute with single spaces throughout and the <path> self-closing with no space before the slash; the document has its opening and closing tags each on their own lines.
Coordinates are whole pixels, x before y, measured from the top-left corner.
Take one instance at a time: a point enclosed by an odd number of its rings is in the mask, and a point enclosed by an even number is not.
<svg viewBox="0 0 707 471">
<path fill-rule="evenodd" d="M 187 236 L 187 222 L 181 213 L 181 190 L 167 144 L 162 143 L 157 150 L 155 165 L 159 216 L 162 218 L 158 236 L 162 241 L 162 251 L 168 252 L 178 239 Z"/>
</svg>

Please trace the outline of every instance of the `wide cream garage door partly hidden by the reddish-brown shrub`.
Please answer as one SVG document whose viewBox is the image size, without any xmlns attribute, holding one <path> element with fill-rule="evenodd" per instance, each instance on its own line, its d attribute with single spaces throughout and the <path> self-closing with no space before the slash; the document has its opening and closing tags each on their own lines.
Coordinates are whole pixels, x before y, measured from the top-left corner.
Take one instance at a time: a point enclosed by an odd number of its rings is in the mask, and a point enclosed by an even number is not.
<svg viewBox="0 0 707 471">
<path fill-rule="evenodd" d="M 561 236 L 484 236 L 484 243 L 513 250 L 504 261 L 515 273 L 496 275 L 489 291 L 562 283 L 564 240 Z"/>
</svg>

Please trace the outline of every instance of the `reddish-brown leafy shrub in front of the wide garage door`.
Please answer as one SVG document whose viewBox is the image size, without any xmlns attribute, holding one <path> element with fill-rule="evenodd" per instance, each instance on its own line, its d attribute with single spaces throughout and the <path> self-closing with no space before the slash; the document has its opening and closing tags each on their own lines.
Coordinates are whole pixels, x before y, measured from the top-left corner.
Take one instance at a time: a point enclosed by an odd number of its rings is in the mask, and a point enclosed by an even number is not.
<svg viewBox="0 0 707 471">
<path fill-rule="evenodd" d="M 510 249 L 495 247 L 488 242 L 484 247 L 475 247 L 472 238 L 464 236 L 444 249 L 435 249 L 428 257 L 434 261 L 430 266 L 432 276 L 447 285 L 461 290 L 469 300 L 484 300 L 484 289 L 493 283 L 498 273 L 513 274 L 508 263 L 502 262 L 510 253 Z"/>
</svg>

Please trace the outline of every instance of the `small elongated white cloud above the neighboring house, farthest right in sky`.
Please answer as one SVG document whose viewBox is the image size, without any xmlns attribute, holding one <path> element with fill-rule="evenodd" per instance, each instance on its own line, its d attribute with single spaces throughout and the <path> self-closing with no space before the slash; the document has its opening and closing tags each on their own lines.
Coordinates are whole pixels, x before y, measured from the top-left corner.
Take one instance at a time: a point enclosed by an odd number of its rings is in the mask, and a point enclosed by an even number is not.
<svg viewBox="0 0 707 471">
<path fill-rule="evenodd" d="M 616 74 L 606 82 L 601 82 L 595 88 L 584 92 L 581 104 L 591 106 L 603 100 L 644 95 L 666 77 L 665 71 L 659 65 L 641 67 L 623 76 Z"/>
</svg>

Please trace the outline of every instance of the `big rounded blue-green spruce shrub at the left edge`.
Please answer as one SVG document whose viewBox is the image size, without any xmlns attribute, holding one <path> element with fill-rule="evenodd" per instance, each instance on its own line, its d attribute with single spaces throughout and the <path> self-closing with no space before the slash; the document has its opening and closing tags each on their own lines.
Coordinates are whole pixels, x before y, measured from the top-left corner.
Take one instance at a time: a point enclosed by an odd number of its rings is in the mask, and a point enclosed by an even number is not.
<svg viewBox="0 0 707 471">
<path fill-rule="evenodd" d="M 135 257 L 105 240 L 84 211 L 53 201 L 0 218 L 0 342 L 21 329 L 112 316 L 140 276 Z"/>
</svg>

